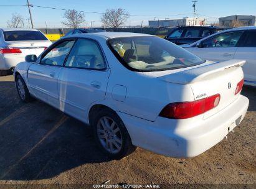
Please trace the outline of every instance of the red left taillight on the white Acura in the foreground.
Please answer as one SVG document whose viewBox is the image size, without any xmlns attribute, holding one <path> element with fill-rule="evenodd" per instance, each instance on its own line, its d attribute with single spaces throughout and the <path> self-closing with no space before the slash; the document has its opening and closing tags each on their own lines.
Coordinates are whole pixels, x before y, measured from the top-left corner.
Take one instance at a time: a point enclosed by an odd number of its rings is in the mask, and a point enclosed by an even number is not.
<svg viewBox="0 0 256 189">
<path fill-rule="evenodd" d="M 220 101 L 220 94 L 191 102 L 171 103 L 164 107 L 159 116 L 171 119 L 187 119 L 203 114 L 216 108 Z"/>
</svg>

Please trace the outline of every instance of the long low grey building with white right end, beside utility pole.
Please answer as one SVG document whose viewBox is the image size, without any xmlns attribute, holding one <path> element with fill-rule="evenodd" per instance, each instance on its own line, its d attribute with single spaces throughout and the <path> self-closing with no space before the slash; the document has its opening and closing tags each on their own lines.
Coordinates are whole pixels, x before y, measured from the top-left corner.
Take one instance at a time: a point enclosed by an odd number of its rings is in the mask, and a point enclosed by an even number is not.
<svg viewBox="0 0 256 189">
<path fill-rule="evenodd" d="M 195 17 L 194 25 L 204 25 L 206 19 Z M 183 19 L 164 19 L 148 21 L 149 27 L 177 27 L 181 25 L 193 25 L 193 18 L 184 17 Z"/>
</svg>

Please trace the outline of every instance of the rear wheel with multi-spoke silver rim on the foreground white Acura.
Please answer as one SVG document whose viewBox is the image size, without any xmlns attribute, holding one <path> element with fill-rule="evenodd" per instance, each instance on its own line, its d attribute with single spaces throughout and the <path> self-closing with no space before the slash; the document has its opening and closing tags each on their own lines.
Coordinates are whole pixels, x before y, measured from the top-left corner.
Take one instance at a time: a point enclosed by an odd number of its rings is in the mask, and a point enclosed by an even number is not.
<svg viewBox="0 0 256 189">
<path fill-rule="evenodd" d="M 102 109 L 92 121 L 98 147 L 110 159 L 122 159 L 136 150 L 125 124 L 111 109 Z"/>
</svg>

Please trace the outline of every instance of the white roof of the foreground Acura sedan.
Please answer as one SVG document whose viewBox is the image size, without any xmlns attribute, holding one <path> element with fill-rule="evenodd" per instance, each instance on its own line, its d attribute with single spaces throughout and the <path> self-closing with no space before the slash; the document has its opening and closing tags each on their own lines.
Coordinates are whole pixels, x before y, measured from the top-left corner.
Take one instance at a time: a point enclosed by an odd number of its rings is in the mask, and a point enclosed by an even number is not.
<svg viewBox="0 0 256 189">
<path fill-rule="evenodd" d="M 130 33 L 130 32 L 98 32 L 98 33 L 85 33 L 85 34 L 72 35 L 72 37 L 90 37 L 90 36 L 92 37 L 98 36 L 98 37 L 103 37 L 107 39 L 113 39 L 118 37 L 139 37 L 139 36 L 154 36 L 154 35 Z"/>
</svg>

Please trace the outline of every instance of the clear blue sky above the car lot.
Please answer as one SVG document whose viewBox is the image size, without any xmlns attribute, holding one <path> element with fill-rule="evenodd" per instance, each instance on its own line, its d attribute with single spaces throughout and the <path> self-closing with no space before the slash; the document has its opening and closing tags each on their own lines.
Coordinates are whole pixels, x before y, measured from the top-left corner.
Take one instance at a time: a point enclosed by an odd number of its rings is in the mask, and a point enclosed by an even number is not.
<svg viewBox="0 0 256 189">
<path fill-rule="evenodd" d="M 57 7 L 61 9 L 75 9 L 77 11 L 91 11 L 102 13 L 106 9 L 122 8 L 131 16 L 125 25 L 148 25 L 149 20 L 175 19 L 193 16 L 192 0 L 29 0 L 36 6 Z M 18 13 L 24 17 L 25 27 L 29 11 L 27 6 L 5 7 L 13 5 L 25 5 L 27 0 L 0 0 L 0 27 L 7 27 L 7 21 L 12 14 Z M 64 21 L 64 12 L 61 10 L 31 7 L 32 19 L 35 28 L 60 28 Z M 206 18 L 207 24 L 218 22 L 219 17 L 239 15 L 256 15 L 256 0 L 197 0 L 196 13 L 198 17 Z M 85 13 L 87 24 L 83 27 L 100 27 L 102 14 Z M 132 16 L 133 15 L 133 16 Z"/>
</svg>

